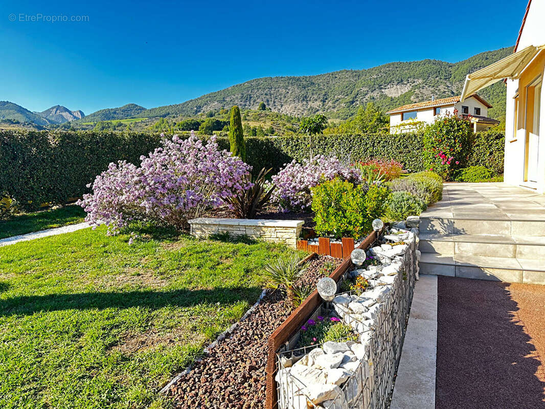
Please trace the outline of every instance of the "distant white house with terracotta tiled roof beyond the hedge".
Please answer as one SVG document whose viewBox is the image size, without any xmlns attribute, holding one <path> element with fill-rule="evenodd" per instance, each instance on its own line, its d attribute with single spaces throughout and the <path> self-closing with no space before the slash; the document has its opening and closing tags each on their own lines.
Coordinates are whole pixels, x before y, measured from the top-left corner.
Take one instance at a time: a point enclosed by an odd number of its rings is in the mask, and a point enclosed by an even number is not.
<svg viewBox="0 0 545 409">
<path fill-rule="evenodd" d="M 475 132 L 486 131 L 495 127 L 500 122 L 497 119 L 488 118 L 488 109 L 492 105 L 474 94 L 466 98 L 463 103 L 460 97 L 432 99 L 421 103 L 398 106 L 386 112 L 390 115 L 390 133 L 397 134 L 416 130 L 422 124 L 435 121 L 437 115 L 445 115 L 447 112 L 453 115 L 468 115 L 473 123 Z"/>
</svg>

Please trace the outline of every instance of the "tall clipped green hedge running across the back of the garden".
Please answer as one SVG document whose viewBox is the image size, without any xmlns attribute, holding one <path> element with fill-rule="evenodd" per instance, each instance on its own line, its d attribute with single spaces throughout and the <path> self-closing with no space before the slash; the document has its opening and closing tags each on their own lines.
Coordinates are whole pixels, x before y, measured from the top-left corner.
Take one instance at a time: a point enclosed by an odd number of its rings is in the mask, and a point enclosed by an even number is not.
<svg viewBox="0 0 545 409">
<path fill-rule="evenodd" d="M 112 161 L 140 164 L 160 145 L 160 136 L 149 133 L 108 131 L 0 131 L 0 196 L 32 209 L 43 202 L 64 203 L 89 191 L 86 185 Z M 272 167 L 276 173 L 293 159 L 308 158 L 308 137 L 247 137 L 247 163 L 259 171 Z M 229 151 L 227 137 L 218 138 Z M 385 133 L 366 135 L 318 135 L 312 140 L 314 155 L 334 155 L 341 161 L 395 159 L 410 172 L 425 170 L 423 135 Z M 504 135 L 475 135 L 466 166 L 482 165 L 502 173 Z"/>
</svg>

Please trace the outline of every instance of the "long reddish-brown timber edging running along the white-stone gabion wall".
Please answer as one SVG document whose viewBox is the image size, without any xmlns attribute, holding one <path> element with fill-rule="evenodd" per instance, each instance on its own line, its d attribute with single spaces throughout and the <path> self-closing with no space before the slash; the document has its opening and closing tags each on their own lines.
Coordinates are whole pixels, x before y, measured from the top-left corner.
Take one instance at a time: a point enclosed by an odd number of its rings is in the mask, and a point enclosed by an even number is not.
<svg viewBox="0 0 545 409">
<path fill-rule="evenodd" d="M 377 239 L 377 232 L 370 233 L 363 242 L 360 243 L 358 249 L 366 249 Z M 337 281 L 342 274 L 344 274 L 348 268 L 352 266 L 352 260 L 350 257 L 344 258 L 344 261 L 338 266 L 334 272 L 329 276 Z M 275 409 L 277 407 L 277 394 L 275 386 L 275 374 L 276 374 L 276 351 L 284 342 L 290 339 L 290 337 L 299 329 L 304 323 L 307 316 L 312 314 L 312 311 L 318 308 L 318 305 L 322 302 L 318 294 L 318 290 L 314 290 L 307 299 L 296 308 L 292 314 L 284 321 L 280 327 L 276 328 L 275 332 L 269 336 L 267 342 L 268 345 L 268 357 L 267 368 L 265 368 L 265 376 L 267 376 L 267 390 L 265 398 L 265 409 Z"/>
</svg>

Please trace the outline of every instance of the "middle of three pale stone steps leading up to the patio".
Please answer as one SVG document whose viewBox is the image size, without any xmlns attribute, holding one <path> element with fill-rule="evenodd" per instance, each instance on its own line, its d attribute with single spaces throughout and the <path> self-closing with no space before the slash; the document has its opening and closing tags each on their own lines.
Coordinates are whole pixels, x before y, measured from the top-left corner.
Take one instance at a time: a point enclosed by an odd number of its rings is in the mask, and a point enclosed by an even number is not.
<svg viewBox="0 0 545 409">
<path fill-rule="evenodd" d="M 419 250 L 506 258 L 545 259 L 545 236 L 421 233 Z"/>
</svg>

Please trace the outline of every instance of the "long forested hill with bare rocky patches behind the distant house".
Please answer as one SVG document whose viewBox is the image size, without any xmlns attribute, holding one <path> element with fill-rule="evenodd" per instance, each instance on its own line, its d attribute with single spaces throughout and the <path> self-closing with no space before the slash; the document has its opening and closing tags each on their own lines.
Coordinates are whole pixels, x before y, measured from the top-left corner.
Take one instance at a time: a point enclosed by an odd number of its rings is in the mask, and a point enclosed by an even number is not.
<svg viewBox="0 0 545 409">
<path fill-rule="evenodd" d="M 465 75 L 512 53 L 513 47 L 487 51 L 458 63 L 425 59 L 395 62 L 366 70 L 342 70 L 312 76 L 264 77 L 222 89 L 182 104 L 160 106 L 138 113 L 140 117 L 193 116 L 239 105 L 256 109 L 261 101 L 272 111 L 294 116 L 324 112 L 331 118 L 348 118 L 358 106 L 374 101 L 383 109 L 411 102 L 459 95 Z M 480 95 L 494 107 L 489 115 L 505 115 L 502 82 Z"/>
</svg>

